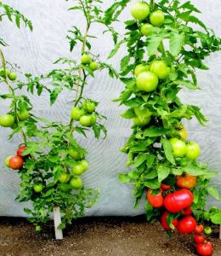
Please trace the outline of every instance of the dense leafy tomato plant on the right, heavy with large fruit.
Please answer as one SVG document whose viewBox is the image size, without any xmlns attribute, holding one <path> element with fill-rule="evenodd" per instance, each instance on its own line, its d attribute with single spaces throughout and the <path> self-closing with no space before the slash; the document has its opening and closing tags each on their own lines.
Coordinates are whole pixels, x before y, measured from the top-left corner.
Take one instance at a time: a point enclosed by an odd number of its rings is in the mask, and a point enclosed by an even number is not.
<svg viewBox="0 0 221 256">
<path fill-rule="evenodd" d="M 145 12 L 144 4 L 150 12 Z M 159 220 L 166 208 L 170 224 L 172 217 L 178 219 L 180 232 L 193 232 L 199 220 L 221 224 L 221 211 L 206 207 L 207 195 L 219 200 L 210 183 L 217 172 L 198 160 L 200 145 L 188 141 L 183 125 L 190 119 L 205 125 L 207 118 L 201 108 L 178 96 L 184 88 L 200 89 L 196 69 L 208 69 L 204 61 L 220 49 L 221 40 L 200 20 L 201 11 L 190 1 L 140 1 L 132 4 L 131 14 L 125 35 L 109 56 L 122 45 L 127 47 L 120 63 L 125 88 L 114 101 L 127 108 L 122 118 L 133 120 L 133 132 L 122 147 L 133 171 L 120 173 L 119 179 L 133 185 L 135 208 L 146 190 L 157 195 L 165 184 L 169 186 L 161 194 L 163 207 L 146 201 L 147 220 Z M 138 109 L 150 113 L 148 122 L 139 122 L 146 117 Z"/>
</svg>

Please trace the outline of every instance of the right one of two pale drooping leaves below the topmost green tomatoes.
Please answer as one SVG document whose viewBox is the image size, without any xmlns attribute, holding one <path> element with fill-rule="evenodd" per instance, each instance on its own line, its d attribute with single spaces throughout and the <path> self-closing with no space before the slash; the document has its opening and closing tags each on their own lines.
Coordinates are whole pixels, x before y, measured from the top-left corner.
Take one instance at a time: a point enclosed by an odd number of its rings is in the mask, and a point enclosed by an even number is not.
<svg viewBox="0 0 221 256">
<path fill-rule="evenodd" d="M 172 32 L 169 38 L 169 50 L 173 56 L 177 56 L 184 45 L 184 34 Z"/>
</svg>

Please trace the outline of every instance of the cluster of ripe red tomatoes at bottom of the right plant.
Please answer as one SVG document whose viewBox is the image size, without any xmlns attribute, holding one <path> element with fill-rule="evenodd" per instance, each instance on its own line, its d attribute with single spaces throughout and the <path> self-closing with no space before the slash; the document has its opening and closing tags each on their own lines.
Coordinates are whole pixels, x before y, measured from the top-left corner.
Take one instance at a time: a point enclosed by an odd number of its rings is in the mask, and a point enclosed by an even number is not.
<svg viewBox="0 0 221 256">
<path fill-rule="evenodd" d="M 191 177 L 188 176 L 188 178 L 195 183 L 195 180 L 192 180 Z M 204 231 L 203 225 L 197 224 L 195 218 L 191 216 L 191 205 L 194 201 L 194 195 L 190 189 L 184 188 L 168 193 L 170 189 L 171 186 L 162 183 L 161 189 L 158 192 L 155 193 L 152 189 L 148 189 L 146 193 L 147 200 L 152 207 L 162 207 L 166 209 L 161 215 L 162 227 L 165 230 L 174 230 L 176 228 L 179 233 L 183 234 L 195 233 L 194 241 L 196 252 L 201 256 L 212 255 L 212 243 L 207 241 L 205 236 L 202 235 Z M 181 217 L 173 218 L 173 214 L 177 214 L 178 212 L 181 213 Z"/>
</svg>

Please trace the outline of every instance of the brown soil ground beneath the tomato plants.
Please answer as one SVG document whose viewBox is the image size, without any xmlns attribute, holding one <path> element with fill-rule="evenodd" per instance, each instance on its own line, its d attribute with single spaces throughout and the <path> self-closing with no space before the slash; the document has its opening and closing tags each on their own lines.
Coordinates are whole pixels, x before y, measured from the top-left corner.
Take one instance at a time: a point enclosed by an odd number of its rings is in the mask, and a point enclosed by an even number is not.
<svg viewBox="0 0 221 256">
<path fill-rule="evenodd" d="M 212 227 L 210 241 L 213 256 L 221 255 L 218 227 Z M 64 232 L 64 240 L 54 240 L 53 224 L 45 225 L 41 233 L 24 218 L 0 218 L 1 256 L 189 256 L 195 255 L 193 236 L 170 238 L 160 224 L 146 223 L 144 216 L 136 218 L 81 218 Z"/>
</svg>

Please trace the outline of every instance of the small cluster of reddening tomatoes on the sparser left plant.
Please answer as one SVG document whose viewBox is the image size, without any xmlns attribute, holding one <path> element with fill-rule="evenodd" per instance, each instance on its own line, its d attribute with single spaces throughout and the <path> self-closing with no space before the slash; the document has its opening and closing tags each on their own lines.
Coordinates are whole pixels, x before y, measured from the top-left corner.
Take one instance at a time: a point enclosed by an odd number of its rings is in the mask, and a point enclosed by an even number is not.
<svg viewBox="0 0 221 256">
<path fill-rule="evenodd" d="M 20 170 L 24 165 L 24 160 L 26 159 L 26 155 L 22 155 L 22 153 L 26 150 L 26 145 L 20 146 L 18 148 L 16 155 L 10 155 L 5 160 L 5 165 L 13 170 Z"/>
</svg>

